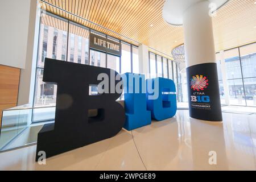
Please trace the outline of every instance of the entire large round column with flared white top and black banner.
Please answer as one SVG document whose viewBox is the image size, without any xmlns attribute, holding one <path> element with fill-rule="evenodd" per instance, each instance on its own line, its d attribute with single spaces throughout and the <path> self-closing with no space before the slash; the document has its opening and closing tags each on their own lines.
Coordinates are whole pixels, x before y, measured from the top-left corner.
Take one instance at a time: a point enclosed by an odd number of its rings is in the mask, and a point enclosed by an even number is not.
<svg viewBox="0 0 256 182">
<path fill-rule="evenodd" d="M 227 1 L 166 0 L 163 8 L 163 17 L 168 23 L 184 27 L 189 115 L 192 118 L 222 121 L 211 14 Z"/>
</svg>

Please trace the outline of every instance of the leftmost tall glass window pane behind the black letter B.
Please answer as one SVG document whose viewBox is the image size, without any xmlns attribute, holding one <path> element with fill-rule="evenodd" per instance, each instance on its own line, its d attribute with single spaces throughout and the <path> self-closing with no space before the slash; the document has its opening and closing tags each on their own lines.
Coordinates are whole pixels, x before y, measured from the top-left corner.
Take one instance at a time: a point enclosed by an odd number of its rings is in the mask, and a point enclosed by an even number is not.
<svg viewBox="0 0 256 182">
<path fill-rule="evenodd" d="M 49 15 L 42 16 L 40 23 L 34 107 L 55 106 L 57 85 L 43 82 L 44 59 L 66 60 L 68 23 Z"/>
</svg>

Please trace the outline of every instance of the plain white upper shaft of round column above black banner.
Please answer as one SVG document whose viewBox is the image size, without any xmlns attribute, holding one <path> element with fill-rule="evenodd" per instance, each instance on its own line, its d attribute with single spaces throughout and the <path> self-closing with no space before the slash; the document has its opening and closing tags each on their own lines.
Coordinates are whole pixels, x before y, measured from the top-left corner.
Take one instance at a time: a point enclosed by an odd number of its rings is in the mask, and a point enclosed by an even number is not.
<svg viewBox="0 0 256 182">
<path fill-rule="evenodd" d="M 216 63 L 209 2 L 192 5 L 183 14 L 186 65 Z"/>
</svg>

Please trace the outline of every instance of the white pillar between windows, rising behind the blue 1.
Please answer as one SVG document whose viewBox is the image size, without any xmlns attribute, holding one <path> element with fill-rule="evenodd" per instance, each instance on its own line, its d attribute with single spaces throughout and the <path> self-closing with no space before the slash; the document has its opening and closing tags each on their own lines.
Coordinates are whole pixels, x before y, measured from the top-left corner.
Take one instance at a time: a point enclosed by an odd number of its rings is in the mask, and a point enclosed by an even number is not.
<svg viewBox="0 0 256 182">
<path fill-rule="evenodd" d="M 144 44 L 139 46 L 139 73 L 149 78 L 148 47 Z"/>
</svg>

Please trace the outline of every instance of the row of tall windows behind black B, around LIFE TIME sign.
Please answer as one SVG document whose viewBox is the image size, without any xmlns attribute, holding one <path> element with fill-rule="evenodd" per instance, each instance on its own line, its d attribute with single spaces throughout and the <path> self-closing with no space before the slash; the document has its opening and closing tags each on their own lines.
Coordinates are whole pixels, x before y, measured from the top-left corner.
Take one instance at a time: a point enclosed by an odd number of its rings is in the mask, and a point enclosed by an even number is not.
<svg viewBox="0 0 256 182">
<path fill-rule="evenodd" d="M 121 59 L 121 57 L 105 52 L 89 50 L 90 29 L 87 27 L 76 23 L 68 23 L 68 20 L 51 16 L 49 13 L 42 16 L 40 23 L 34 107 L 56 105 L 57 85 L 43 82 L 44 59 L 46 57 L 73 63 L 111 68 L 118 73 L 121 73 L 121 71 L 123 73 L 139 73 L 138 47 L 122 42 Z M 107 36 L 101 32 L 91 31 L 96 35 L 107 38 Z M 120 42 L 120 40 L 109 36 L 108 39 L 118 43 Z M 94 89 L 95 88 L 92 88 L 92 93 L 96 93 Z M 33 122 L 44 121 L 44 117 L 38 114 L 40 113 L 39 110 L 40 108 L 33 110 Z M 54 115 L 54 111 L 52 111 L 52 113 Z"/>
</svg>

